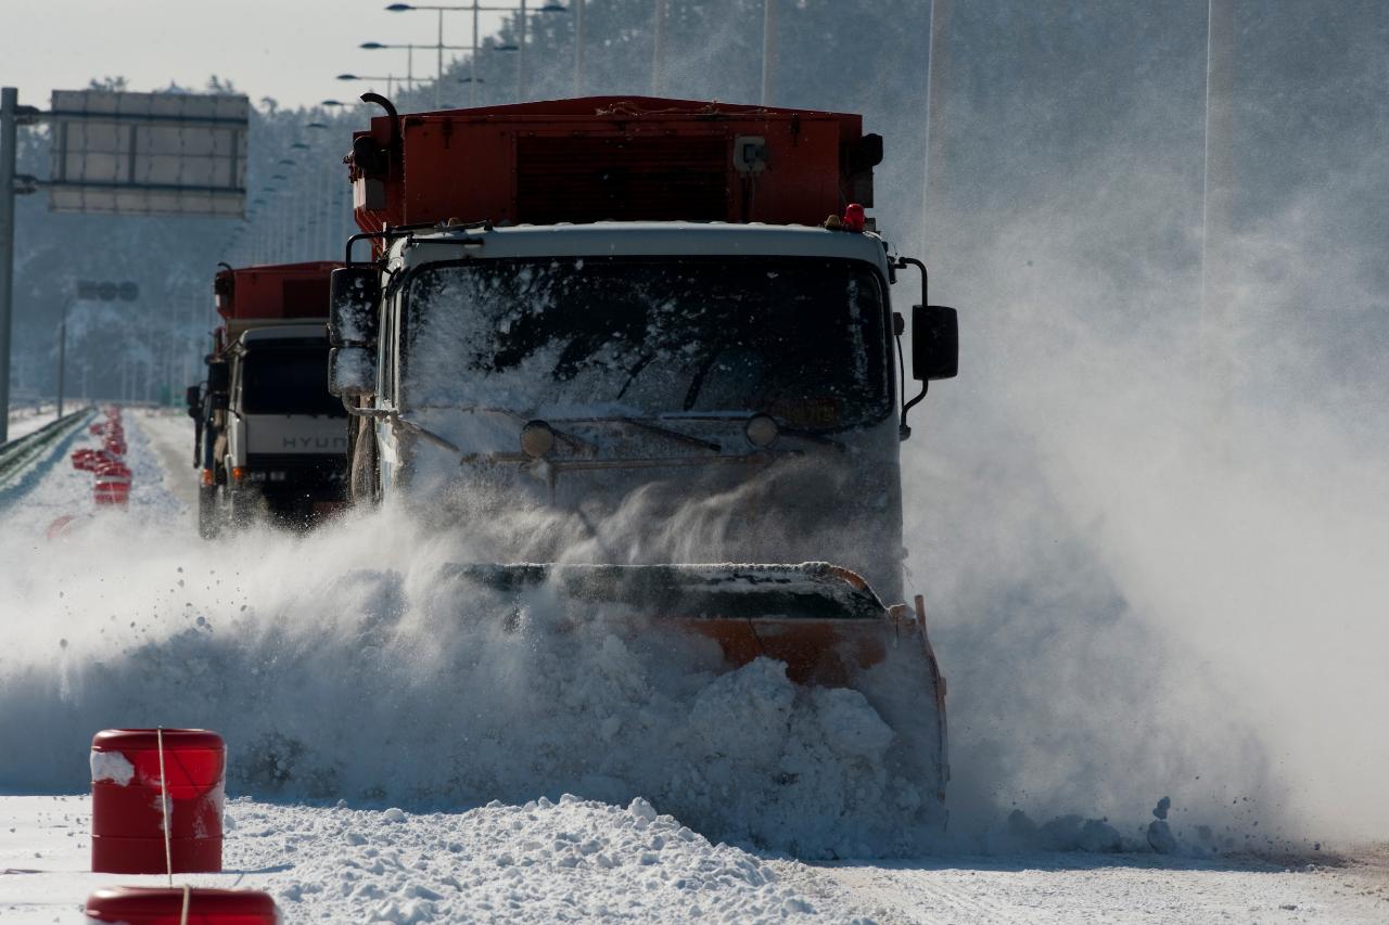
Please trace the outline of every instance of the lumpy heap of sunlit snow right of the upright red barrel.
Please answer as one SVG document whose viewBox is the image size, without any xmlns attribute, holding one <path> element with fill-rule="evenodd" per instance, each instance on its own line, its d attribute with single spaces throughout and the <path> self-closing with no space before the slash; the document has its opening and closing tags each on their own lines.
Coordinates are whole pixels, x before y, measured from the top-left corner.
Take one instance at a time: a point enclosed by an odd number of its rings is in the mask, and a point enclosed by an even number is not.
<svg viewBox="0 0 1389 925">
<path fill-rule="evenodd" d="M 292 861 L 258 885 L 289 921 L 858 921 L 640 799 L 428 815 L 232 801 L 228 815 L 229 867 Z"/>
</svg>

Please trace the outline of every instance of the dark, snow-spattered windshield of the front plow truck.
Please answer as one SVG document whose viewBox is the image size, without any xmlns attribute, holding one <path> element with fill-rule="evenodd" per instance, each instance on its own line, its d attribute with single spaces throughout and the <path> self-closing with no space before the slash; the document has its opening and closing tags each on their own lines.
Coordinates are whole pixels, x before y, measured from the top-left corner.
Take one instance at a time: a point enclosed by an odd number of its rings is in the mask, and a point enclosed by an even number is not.
<svg viewBox="0 0 1389 925">
<path fill-rule="evenodd" d="M 474 261 L 413 281 L 403 407 L 525 417 L 888 412 L 874 271 L 824 258 Z"/>
</svg>

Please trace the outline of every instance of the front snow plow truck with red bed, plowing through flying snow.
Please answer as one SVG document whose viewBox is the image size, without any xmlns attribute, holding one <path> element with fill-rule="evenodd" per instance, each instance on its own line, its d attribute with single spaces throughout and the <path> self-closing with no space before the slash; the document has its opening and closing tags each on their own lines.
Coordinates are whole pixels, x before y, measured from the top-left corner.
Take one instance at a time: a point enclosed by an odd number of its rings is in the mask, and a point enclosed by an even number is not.
<svg viewBox="0 0 1389 925">
<path fill-rule="evenodd" d="M 363 231 L 328 326 L 351 499 L 485 538 L 468 581 L 860 690 L 933 797 L 918 821 L 943 824 L 946 682 L 904 588 L 900 454 L 956 375 L 957 319 L 864 212 L 882 138 L 674 99 L 363 100 L 383 114 L 346 158 Z"/>
</svg>

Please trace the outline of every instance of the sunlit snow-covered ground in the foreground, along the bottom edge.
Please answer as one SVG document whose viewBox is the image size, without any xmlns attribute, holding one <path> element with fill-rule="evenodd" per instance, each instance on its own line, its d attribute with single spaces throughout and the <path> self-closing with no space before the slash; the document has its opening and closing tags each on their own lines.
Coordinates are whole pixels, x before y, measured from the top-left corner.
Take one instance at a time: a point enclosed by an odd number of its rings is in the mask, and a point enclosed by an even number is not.
<svg viewBox="0 0 1389 925">
<path fill-rule="evenodd" d="M 1029 853 L 808 865 L 710 844 L 646 803 L 411 814 L 228 804 L 225 872 L 176 878 L 275 896 L 288 922 L 1385 922 L 1389 853 L 1195 861 Z M 0 918 L 79 922 L 86 796 L 0 797 Z"/>
</svg>

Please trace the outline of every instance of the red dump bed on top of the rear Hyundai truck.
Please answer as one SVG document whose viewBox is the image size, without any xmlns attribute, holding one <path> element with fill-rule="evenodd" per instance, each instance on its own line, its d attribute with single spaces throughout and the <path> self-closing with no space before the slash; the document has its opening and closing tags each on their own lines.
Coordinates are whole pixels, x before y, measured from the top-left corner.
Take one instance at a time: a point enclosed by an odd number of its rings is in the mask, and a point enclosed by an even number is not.
<svg viewBox="0 0 1389 925">
<path fill-rule="evenodd" d="M 217 274 L 217 314 L 235 336 L 258 324 L 328 317 L 328 275 L 342 267 L 326 260 L 240 267 Z"/>
</svg>

